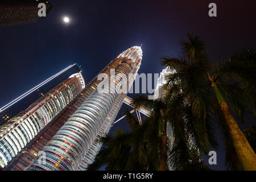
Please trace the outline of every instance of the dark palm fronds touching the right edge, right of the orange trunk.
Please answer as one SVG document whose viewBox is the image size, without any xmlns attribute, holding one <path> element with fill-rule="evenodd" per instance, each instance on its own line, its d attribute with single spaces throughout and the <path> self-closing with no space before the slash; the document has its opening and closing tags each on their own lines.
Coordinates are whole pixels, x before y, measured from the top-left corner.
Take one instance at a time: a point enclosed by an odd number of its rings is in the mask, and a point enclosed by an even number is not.
<svg viewBox="0 0 256 182">
<path fill-rule="evenodd" d="M 233 113 L 243 120 L 243 114 L 256 110 L 256 49 L 246 48 L 227 60 L 218 61 L 214 81 L 225 96 Z"/>
</svg>

